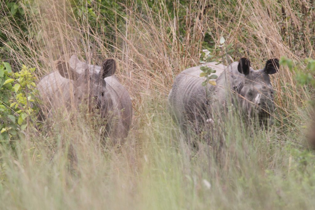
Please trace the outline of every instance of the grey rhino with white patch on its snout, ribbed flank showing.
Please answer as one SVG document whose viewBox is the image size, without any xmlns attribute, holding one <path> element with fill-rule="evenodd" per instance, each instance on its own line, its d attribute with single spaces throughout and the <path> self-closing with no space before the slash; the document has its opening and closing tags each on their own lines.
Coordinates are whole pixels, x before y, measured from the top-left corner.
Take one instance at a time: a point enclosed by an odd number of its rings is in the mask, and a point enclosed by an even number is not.
<svg viewBox="0 0 315 210">
<path fill-rule="evenodd" d="M 202 86 L 205 77 L 200 77 L 201 66 L 216 70 L 217 79 L 210 79 L 216 85 Z M 168 96 L 169 113 L 181 129 L 190 125 L 200 132 L 203 126 L 213 125 L 215 113 L 230 101 L 232 105 L 237 103 L 246 116 L 258 116 L 265 126 L 272 124 L 275 105 L 269 75 L 278 68 L 278 59 L 270 59 L 263 69 L 255 71 L 246 58 L 229 66 L 209 62 L 188 68 L 175 78 Z"/>
</svg>

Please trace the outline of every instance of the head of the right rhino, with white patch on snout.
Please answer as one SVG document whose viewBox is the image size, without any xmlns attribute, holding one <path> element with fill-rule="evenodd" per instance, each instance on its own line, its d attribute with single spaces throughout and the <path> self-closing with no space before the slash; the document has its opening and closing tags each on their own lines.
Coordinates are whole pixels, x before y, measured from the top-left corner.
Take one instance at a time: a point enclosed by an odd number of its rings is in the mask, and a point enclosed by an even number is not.
<svg viewBox="0 0 315 210">
<path fill-rule="evenodd" d="M 238 84 L 239 103 L 242 110 L 250 115 L 258 114 L 259 117 L 266 117 L 274 111 L 274 98 L 270 74 L 279 69 L 278 59 L 267 60 L 263 69 L 253 70 L 246 58 L 241 58 L 238 63 L 238 71 L 244 75 Z"/>
</svg>

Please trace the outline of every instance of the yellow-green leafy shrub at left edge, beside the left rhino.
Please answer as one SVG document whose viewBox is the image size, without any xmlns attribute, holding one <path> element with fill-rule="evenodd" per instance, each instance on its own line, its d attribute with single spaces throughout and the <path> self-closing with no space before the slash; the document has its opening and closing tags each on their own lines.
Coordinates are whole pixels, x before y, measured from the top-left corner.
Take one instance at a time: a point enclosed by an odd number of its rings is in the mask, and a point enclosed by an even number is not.
<svg viewBox="0 0 315 210">
<path fill-rule="evenodd" d="M 37 94 L 32 72 L 35 68 L 22 66 L 21 71 L 12 72 L 9 63 L 0 64 L 0 142 L 23 136 L 27 125 L 33 125 L 37 107 L 33 105 Z"/>
</svg>

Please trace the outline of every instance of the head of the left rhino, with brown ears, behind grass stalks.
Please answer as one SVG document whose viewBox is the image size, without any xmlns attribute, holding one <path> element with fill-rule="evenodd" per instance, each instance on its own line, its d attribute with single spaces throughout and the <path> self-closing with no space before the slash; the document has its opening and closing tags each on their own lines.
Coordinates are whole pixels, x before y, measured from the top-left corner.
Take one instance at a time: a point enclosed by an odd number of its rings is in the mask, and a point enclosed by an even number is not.
<svg viewBox="0 0 315 210">
<path fill-rule="evenodd" d="M 62 77 L 74 81 L 72 96 L 76 104 L 84 103 L 88 105 L 89 110 L 97 108 L 102 116 L 106 115 L 109 107 L 112 106 L 112 99 L 104 78 L 115 73 L 116 63 L 114 59 L 105 60 L 99 72 L 90 71 L 89 65 L 73 59 L 73 57 L 69 63 L 58 61 L 57 69 Z"/>
</svg>

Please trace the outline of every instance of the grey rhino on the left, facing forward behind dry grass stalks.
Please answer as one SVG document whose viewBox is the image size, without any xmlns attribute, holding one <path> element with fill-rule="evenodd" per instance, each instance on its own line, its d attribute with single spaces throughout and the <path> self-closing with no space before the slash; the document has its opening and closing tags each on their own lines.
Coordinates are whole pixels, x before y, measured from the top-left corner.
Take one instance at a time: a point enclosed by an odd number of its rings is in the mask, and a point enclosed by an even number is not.
<svg viewBox="0 0 315 210">
<path fill-rule="evenodd" d="M 42 77 L 37 84 L 48 116 L 87 105 L 89 111 L 105 118 L 108 136 L 117 141 L 127 137 L 132 120 L 131 98 L 114 75 L 116 62 L 106 59 L 102 66 L 88 65 L 73 55 L 69 62 L 59 60 L 58 71 Z"/>
</svg>

